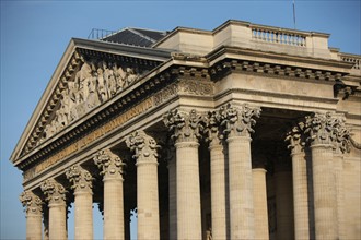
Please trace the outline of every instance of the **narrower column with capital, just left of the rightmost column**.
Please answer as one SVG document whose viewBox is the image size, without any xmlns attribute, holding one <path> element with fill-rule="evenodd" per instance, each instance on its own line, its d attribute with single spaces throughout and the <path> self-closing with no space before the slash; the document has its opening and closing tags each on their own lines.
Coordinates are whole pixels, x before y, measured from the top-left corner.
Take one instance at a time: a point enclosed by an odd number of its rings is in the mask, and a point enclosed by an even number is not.
<svg viewBox="0 0 361 240">
<path fill-rule="evenodd" d="M 310 239 L 307 166 L 304 149 L 304 124 L 294 127 L 286 137 L 290 142 L 293 177 L 294 239 Z"/>
</svg>

